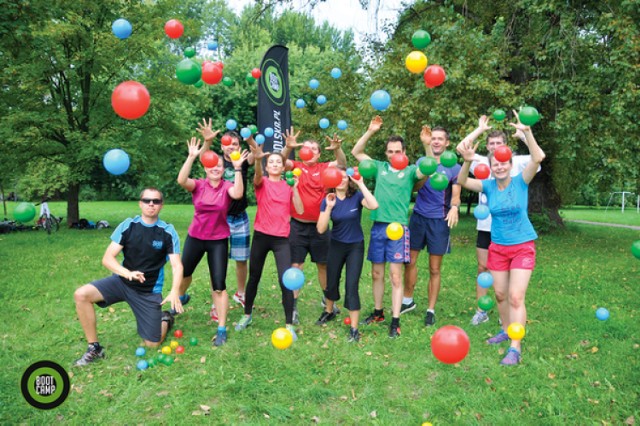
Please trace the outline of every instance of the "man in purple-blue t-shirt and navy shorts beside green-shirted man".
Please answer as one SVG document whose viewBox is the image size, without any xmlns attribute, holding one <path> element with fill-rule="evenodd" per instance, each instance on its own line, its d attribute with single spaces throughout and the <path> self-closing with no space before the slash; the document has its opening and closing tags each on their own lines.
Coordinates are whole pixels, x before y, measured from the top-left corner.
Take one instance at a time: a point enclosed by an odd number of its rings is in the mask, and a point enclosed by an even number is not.
<svg viewBox="0 0 640 426">
<path fill-rule="evenodd" d="M 432 326 L 436 322 L 435 307 L 440 292 L 440 267 L 442 257 L 451 252 L 450 229 L 458 223 L 460 208 L 460 185 L 458 172 L 460 165 L 445 167 L 440 164 L 440 156 L 449 146 L 449 132 L 443 127 L 434 127 L 431 134 L 421 133 L 422 143 L 431 145 L 434 158 L 438 161 L 437 172 L 444 173 L 449 185 L 444 191 L 438 191 L 427 182 L 418 191 L 413 214 L 409 221 L 410 261 L 405 264 L 404 297 L 400 313 L 412 311 L 416 308 L 413 292 L 418 281 L 418 256 L 427 247 L 429 252 L 429 307 L 425 318 L 425 325 Z"/>
</svg>

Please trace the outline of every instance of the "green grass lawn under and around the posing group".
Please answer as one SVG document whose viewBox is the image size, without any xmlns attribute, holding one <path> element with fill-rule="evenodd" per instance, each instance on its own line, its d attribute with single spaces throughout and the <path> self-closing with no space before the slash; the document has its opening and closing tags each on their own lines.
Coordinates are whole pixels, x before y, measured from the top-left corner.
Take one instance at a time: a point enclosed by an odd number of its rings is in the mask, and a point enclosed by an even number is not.
<svg viewBox="0 0 640 426">
<path fill-rule="evenodd" d="M 59 204 L 51 208 L 64 214 Z M 86 203 L 81 211 L 83 217 L 115 226 L 136 214 L 137 206 Z M 167 205 L 162 214 L 183 239 L 191 216 L 191 206 Z M 423 253 L 418 309 L 402 317 L 403 334 L 397 340 L 387 337 L 387 320 L 362 327 L 361 343 L 348 344 L 344 311 L 339 321 L 315 326 L 321 295 L 315 268 L 308 263 L 305 272 L 313 282 L 300 299 L 299 341 L 286 351 L 274 349 L 270 335 L 283 325 L 284 314 L 270 257 L 254 322 L 243 333 L 230 330 L 226 346 L 209 343 L 215 324 L 207 315 L 210 296 L 202 264 L 194 275 L 192 302 L 177 321 L 184 330 L 181 341 L 195 336 L 198 346 L 187 345 L 171 367 L 137 371 L 135 320 L 128 306 L 119 304 L 113 311 L 97 311 L 108 358 L 71 369 L 86 348 L 73 292 L 107 275 L 100 259 L 110 233 L 63 229 L 51 236 L 42 231 L 0 235 L 0 423 L 564 425 L 640 419 L 640 262 L 629 250 L 640 232 L 568 224 L 539 239 L 538 266 L 527 294 L 523 363 L 514 368 L 498 364 L 505 346 L 484 344 L 497 330 L 495 312 L 489 323 L 469 325 L 475 305 L 475 222 L 463 217 L 452 234 L 453 253 L 445 257 L 437 306 L 437 326 L 458 325 L 471 340 L 469 355 L 458 365 L 441 364 L 430 351 L 435 330 L 423 325 L 428 274 Z M 232 265 L 227 282 L 235 290 Z M 361 281 L 363 314 L 373 306 L 370 283 L 367 264 Z M 600 306 L 611 312 L 606 322 L 595 319 Z M 234 306 L 230 323 L 241 315 Z M 72 372 L 69 398 L 50 411 L 30 407 L 19 391 L 24 370 L 43 359 Z M 209 417 L 201 405 L 211 407 Z"/>
</svg>

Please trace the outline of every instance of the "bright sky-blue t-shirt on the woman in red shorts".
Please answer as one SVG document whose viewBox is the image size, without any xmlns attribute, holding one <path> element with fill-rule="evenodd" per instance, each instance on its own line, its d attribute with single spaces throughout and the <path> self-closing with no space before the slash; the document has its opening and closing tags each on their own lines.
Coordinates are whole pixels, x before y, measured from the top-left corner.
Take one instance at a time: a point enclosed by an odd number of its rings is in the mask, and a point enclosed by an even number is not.
<svg viewBox="0 0 640 426">
<path fill-rule="evenodd" d="M 491 241 L 496 244 L 513 246 L 538 238 L 529 220 L 529 185 L 522 173 L 511 178 L 509 185 L 498 190 L 495 179 L 482 181 L 482 192 L 487 195 L 491 212 Z"/>
</svg>

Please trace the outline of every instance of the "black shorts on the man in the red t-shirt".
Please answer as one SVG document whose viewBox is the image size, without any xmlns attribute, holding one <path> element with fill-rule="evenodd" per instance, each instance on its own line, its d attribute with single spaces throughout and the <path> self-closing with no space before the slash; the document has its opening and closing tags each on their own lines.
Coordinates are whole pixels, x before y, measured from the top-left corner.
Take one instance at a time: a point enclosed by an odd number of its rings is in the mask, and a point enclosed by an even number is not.
<svg viewBox="0 0 640 426">
<path fill-rule="evenodd" d="M 315 222 L 306 223 L 291 219 L 291 263 L 304 263 L 307 253 L 311 253 L 313 263 L 327 263 L 330 234 L 319 234 Z"/>
</svg>

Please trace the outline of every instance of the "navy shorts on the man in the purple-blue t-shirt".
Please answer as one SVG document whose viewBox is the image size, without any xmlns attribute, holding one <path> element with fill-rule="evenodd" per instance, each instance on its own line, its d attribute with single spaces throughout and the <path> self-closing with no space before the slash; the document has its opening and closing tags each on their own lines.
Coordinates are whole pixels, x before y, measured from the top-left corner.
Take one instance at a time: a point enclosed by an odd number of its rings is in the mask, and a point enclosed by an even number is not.
<svg viewBox="0 0 640 426">
<path fill-rule="evenodd" d="M 409 219 L 411 250 L 427 248 L 429 254 L 442 256 L 451 253 L 450 229 L 446 219 L 430 219 L 413 213 Z"/>
</svg>

